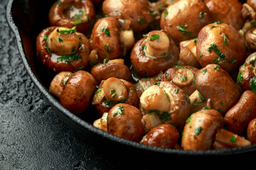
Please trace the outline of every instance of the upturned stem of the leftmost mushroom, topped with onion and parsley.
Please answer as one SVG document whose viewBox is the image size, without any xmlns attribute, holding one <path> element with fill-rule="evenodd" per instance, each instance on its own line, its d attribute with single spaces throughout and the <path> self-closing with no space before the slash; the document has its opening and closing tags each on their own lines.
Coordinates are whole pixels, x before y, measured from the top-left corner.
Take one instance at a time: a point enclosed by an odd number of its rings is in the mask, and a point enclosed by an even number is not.
<svg viewBox="0 0 256 170">
<path fill-rule="evenodd" d="M 48 36 L 48 47 L 56 55 L 71 55 L 80 46 L 80 39 L 75 28 L 55 28 Z"/>
</svg>

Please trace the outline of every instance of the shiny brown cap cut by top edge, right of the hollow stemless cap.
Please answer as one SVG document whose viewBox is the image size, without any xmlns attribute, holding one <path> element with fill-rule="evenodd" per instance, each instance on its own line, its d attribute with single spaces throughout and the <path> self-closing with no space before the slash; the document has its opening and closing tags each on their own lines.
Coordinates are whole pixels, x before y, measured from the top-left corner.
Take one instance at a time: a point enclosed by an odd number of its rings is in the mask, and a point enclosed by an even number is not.
<svg viewBox="0 0 256 170">
<path fill-rule="evenodd" d="M 108 16 L 129 20 L 134 32 L 146 29 L 154 21 L 149 12 L 149 1 L 146 0 L 105 0 L 102 11 Z"/>
</svg>

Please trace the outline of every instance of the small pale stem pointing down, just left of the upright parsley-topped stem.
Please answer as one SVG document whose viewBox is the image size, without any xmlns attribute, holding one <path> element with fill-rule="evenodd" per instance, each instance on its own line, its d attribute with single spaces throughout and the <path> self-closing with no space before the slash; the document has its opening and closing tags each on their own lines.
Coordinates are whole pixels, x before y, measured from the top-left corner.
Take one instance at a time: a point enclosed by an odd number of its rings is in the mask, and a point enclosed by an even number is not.
<svg viewBox="0 0 256 170">
<path fill-rule="evenodd" d="M 119 33 L 119 40 L 127 50 L 131 50 L 135 43 L 133 30 L 121 30 Z"/>
</svg>

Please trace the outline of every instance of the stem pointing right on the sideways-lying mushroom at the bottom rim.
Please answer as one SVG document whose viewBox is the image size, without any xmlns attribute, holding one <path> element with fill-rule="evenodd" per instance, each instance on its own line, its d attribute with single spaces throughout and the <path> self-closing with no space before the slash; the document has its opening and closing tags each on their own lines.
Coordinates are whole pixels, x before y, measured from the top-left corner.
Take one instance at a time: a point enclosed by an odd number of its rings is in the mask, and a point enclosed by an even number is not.
<svg viewBox="0 0 256 170">
<path fill-rule="evenodd" d="M 233 132 L 220 128 L 215 135 L 215 142 L 213 147 L 215 149 L 228 149 L 233 147 L 245 147 L 251 145 L 249 140 L 244 137 L 236 135 Z"/>
</svg>

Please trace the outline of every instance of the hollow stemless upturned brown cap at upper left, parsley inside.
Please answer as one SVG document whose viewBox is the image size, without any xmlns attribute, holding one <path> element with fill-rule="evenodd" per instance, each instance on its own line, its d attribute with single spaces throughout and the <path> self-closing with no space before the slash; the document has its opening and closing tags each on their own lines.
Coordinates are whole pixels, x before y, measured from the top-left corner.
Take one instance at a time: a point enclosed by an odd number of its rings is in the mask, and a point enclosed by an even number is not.
<svg viewBox="0 0 256 170">
<path fill-rule="evenodd" d="M 72 28 L 85 33 L 95 18 L 95 9 L 91 1 L 58 0 L 49 11 L 51 26 Z"/>
</svg>

